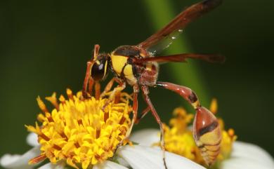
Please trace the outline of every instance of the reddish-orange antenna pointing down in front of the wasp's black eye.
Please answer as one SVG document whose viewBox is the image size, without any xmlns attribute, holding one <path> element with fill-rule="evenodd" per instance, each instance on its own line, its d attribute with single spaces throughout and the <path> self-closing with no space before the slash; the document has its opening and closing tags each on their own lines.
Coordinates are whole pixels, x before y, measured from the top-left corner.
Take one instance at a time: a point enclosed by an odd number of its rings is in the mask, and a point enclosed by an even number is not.
<svg viewBox="0 0 274 169">
<path fill-rule="evenodd" d="M 91 66 L 92 65 L 93 65 L 92 60 L 89 60 L 88 62 L 86 62 L 86 76 L 84 79 L 83 89 L 81 90 L 84 98 L 90 97 L 89 93 L 87 92 L 88 84 L 89 84 L 90 92 L 92 91 L 92 88 L 93 88 L 93 79 L 91 79 Z M 90 93 L 90 95 L 91 95 L 91 93 Z"/>
</svg>

